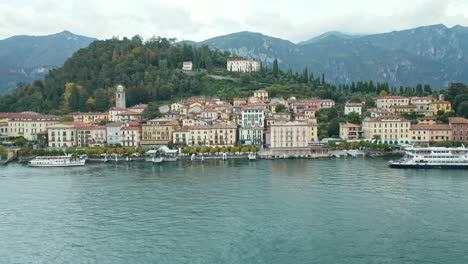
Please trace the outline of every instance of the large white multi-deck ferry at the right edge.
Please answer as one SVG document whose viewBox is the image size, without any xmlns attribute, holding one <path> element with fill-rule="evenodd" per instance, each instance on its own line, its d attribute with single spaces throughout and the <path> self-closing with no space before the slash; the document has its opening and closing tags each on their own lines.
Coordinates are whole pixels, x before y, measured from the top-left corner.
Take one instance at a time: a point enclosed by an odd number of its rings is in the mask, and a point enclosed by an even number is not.
<svg viewBox="0 0 468 264">
<path fill-rule="evenodd" d="M 463 168 L 468 169 L 468 149 L 458 148 L 415 148 L 405 149 L 405 157 L 391 161 L 392 168 Z"/>
</svg>

